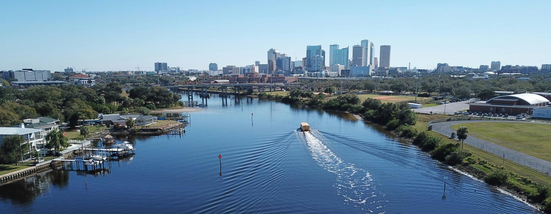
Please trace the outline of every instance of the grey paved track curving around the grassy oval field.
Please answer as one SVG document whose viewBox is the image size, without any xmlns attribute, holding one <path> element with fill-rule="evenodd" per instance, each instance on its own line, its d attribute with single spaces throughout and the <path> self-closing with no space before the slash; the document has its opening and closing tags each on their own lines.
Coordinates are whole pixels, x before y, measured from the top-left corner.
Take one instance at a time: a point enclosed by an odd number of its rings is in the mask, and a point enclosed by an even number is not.
<svg viewBox="0 0 551 214">
<path fill-rule="evenodd" d="M 548 124 L 544 122 L 528 122 L 528 121 L 509 121 L 509 120 L 458 120 L 458 121 L 449 121 L 449 122 L 441 122 L 441 123 L 434 123 L 433 124 L 433 131 L 436 131 L 437 133 L 444 134 L 446 136 L 450 136 L 452 132 L 455 132 L 456 130 L 452 129 L 451 126 L 455 124 L 460 123 L 540 123 L 540 124 Z M 457 138 L 456 138 L 457 139 Z M 551 162 L 545 161 L 541 158 L 537 158 L 531 155 L 527 155 L 525 153 L 515 151 L 512 149 L 509 149 L 505 146 L 500 146 L 497 144 L 494 144 L 492 142 L 476 138 L 474 136 L 468 135 L 467 139 L 463 141 L 466 144 L 469 144 L 471 146 L 478 147 L 480 149 L 489 151 L 491 153 L 494 153 L 495 155 L 498 155 L 499 157 L 504 157 L 515 161 L 517 163 L 523 164 L 525 166 L 537 169 L 541 172 L 548 172 L 551 174 Z"/>
</svg>

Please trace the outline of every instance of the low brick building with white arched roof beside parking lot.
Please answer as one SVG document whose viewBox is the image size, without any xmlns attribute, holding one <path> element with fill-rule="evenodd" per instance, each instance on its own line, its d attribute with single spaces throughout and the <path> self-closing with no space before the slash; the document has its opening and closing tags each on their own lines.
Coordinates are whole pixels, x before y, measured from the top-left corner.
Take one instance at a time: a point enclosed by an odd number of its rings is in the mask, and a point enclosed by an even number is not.
<svg viewBox="0 0 551 214">
<path fill-rule="evenodd" d="M 469 111 L 496 114 L 532 114 L 534 108 L 547 106 L 549 100 L 537 94 L 504 95 L 469 104 Z"/>
</svg>

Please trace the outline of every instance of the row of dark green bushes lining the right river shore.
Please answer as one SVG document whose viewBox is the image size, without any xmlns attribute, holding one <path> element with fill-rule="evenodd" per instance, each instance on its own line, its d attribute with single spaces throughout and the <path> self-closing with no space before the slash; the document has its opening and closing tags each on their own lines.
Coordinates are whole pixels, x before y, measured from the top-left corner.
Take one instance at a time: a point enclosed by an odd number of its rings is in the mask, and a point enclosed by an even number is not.
<svg viewBox="0 0 551 214">
<path fill-rule="evenodd" d="M 431 126 L 428 127 L 428 130 L 417 130 L 413 126 L 418 122 L 418 115 L 410 111 L 408 105 L 382 103 L 380 100 L 372 98 L 362 102 L 358 96 L 351 94 L 325 101 L 325 95 L 322 93 L 314 95 L 311 91 L 300 90 L 293 90 L 288 96 L 264 93 L 260 93 L 258 96 L 287 103 L 302 103 L 308 106 L 358 114 L 365 120 L 385 125 L 387 130 L 418 146 L 435 160 L 472 174 L 490 185 L 507 190 L 526 200 L 539 210 L 551 213 L 550 186 L 538 184 L 503 166 L 498 166 L 495 162 L 490 163 L 483 158 L 476 157 L 467 149 L 463 149 L 462 142 L 446 142 L 440 134 L 431 131 Z M 462 138 L 463 134 L 466 135 L 466 133 L 458 131 L 458 139 L 464 139 Z"/>
</svg>

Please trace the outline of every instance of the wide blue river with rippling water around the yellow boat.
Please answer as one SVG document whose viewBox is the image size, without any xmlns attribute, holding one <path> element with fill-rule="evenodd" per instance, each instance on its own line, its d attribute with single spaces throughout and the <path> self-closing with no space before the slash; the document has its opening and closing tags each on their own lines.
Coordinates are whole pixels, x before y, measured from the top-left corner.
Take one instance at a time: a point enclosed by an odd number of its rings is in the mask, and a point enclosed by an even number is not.
<svg viewBox="0 0 551 214">
<path fill-rule="evenodd" d="M 0 186 L 0 212 L 537 213 L 350 114 L 222 99 L 192 112 L 185 135 L 120 138 L 136 155 L 104 172 Z"/>
</svg>

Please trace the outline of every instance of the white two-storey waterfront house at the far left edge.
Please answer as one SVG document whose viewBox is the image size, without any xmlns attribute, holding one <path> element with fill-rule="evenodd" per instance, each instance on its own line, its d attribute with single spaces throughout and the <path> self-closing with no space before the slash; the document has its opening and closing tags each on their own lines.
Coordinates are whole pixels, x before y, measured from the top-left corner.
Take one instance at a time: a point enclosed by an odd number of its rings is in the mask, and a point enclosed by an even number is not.
<svg viewBox="0 0 551 214">
<path fill-rule="evenodd" d="M 23 160 L 30 158 L 31 151 L 45 154 L 44 146 L 46 144 L 45 130 L 25 128 L 25 124 L 19 124 L 19 127 L 0 127 L 0 146 L 4 145 L 4 138 L 7 136 L 20 135 L 25 138 L 23 144 L 29 144 L 29 152 L 23 155 Z"/>
</svg>

